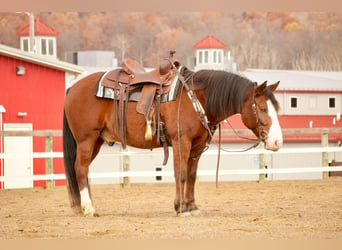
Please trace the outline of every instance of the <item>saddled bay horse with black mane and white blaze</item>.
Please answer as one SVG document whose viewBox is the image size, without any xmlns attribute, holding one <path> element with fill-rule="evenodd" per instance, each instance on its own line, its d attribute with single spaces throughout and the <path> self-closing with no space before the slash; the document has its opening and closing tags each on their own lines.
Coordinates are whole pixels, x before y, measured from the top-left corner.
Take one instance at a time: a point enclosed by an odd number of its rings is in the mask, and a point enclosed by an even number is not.
<svg viewBox="0 0 342 250">
<path fill-rule="evenodd" d="M 114 105 L 99 98 L 94 89 L 103 72 L 92 73 L 68 89 L 64 103 L 63 152 L 71 207 L 84 215 L 96 216 L 88 183 L 89 164 L 103 143 L 121 142 L 114 132 Z M 238 74 L 220 70 L 192 72 L 181 70 L 184 83 L 196 96 L 207 117 L 206 126 L 195 111 L 193 100 L 183 86 L 175 101 L 160 104 L 160 117 L 173 150 L 176 183 L 174 209 L 177 214 L 196 215 L 195 180 L 198 162 L 216 126 L 234 114 L 241 114 L 244 125 L 264 142 L 265 148 L 277 151 L 282 132 L 277 119 L 279 104 L 273 94 L 279 82 L 257 85 Z M 146 121 L 136 112 L 136 102 L 128 102 L 126 115 L 127 145 L 153 149 L 161 147 L 154 135 L 145 140 Z"/>
</svg>

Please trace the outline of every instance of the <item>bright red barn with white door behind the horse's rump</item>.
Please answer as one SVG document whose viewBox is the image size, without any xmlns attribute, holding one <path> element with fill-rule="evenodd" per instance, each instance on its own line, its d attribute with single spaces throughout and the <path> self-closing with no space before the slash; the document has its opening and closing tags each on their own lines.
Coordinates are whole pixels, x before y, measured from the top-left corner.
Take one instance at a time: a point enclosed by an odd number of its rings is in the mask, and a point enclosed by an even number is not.
<svg viewBox="0 0 342 250">
<path fill-rule="evenodd" d="M 0 130 L 61 130 L 65 88 L 82 72 L 81 67 L 53 57 L 0 45 Z M 7 154 L 45 151 L 44 137 L 4 137 L 0 142 Z M 62 137 L 54 137 L 53 151 L 62 151 Z M 54 173 L 64 172 L 62 158 L 54 159 L 53 166 Z M 45 159 L 1 159 L 1 176 L 44 173 Z M 45 181 L 6 182 L 1 188 L 45 185 Z"/>
</svg>

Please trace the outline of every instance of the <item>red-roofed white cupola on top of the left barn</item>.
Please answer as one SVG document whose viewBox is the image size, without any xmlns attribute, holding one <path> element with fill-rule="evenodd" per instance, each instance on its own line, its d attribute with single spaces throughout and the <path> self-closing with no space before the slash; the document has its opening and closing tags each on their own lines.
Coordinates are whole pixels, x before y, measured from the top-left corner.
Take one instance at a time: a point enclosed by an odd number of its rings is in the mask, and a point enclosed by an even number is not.
<svg viewBox="0 0 342 250">
<path fill-rule="evenodd" d="M 21 50 L 49 57 L 57 57 L 58 34 L 58 31 L 44 23 L 40 18 L 35 18 L 34 25 L 28 24 L 17 33 L 20 37 Z"/>
</svg>

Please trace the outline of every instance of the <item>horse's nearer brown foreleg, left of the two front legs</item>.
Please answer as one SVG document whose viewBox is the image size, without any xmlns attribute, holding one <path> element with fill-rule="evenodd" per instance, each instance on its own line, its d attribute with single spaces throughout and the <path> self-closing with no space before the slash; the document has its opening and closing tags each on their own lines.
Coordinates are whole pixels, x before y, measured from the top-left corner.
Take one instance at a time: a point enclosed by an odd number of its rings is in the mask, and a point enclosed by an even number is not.
<svg viewBox="0 0 342 250">
<path fill-rule="evenodd" d="M 176 182 L 176 198 L 174 207 L 177 214 L 187 212 L 184 199 L 184 187 L 187 179 L 187 162 L 190 154 L 191 144 L 189 141 L 181 140 L 180 148 L 178 142 L 173 142 L 173 167 Z"/>
</svg>

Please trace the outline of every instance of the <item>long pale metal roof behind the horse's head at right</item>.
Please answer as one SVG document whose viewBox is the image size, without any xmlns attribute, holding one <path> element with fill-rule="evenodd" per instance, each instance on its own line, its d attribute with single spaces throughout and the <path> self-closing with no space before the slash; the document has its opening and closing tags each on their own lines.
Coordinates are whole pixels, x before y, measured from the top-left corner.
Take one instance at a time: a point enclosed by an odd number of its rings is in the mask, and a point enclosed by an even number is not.
<svg viewBox="0 0 342 250">
<path fill-rule="evenodd" d="M 342 71 L 246 69 L 240 74 L 258 84 L 280 81 L 282 91 L 342 91 Z"/>
</svg>

